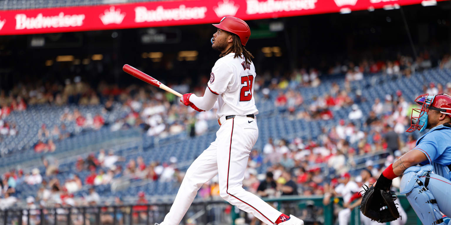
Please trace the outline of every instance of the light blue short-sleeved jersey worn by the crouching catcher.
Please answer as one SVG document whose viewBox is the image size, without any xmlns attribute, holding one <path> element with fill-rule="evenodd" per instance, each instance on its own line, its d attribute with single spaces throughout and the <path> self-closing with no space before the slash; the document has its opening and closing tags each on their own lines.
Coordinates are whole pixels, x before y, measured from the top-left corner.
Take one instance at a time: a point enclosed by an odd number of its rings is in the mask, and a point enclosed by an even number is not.
<svg viewBox="0 0 451 225">
<path fill-rule="evenodd" d="M 451 164 L 451 127 L 439 125 L 421 136 L 413 149 L 422 151 L 429 162 L 448 166 Z"/>
</svg>

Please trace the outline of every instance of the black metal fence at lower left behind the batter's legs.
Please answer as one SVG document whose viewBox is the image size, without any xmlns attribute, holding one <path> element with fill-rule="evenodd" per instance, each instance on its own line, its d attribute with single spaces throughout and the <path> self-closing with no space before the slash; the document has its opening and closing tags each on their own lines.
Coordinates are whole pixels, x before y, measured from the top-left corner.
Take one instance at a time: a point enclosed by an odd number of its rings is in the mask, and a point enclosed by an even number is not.
<svg viewBox="0 0 451 225">
<path fill-rule="evenodd" d="M 149 225 L 160 223 L 171 204 L 87 206 L 0 211 L 0 225 Z M 228 210 L 230 209 L 230 210 Z M 195 202 L 182 224 L 229 223 L 231 206 L 225 201 Z"/>
</svg>

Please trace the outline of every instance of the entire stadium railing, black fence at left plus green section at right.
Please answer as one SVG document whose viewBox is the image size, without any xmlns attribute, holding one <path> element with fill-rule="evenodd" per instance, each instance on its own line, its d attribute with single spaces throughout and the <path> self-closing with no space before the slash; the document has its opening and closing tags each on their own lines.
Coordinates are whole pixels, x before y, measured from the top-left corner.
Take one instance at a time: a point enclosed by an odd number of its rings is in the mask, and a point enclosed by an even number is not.
<svg viewBox="0 0 451 225">
<path fill-rule="evenodd" d="M 405 195 L 398 195 L 402 207 L 407 213 L 405 225 L 421 225 Z M 334 203 L 323 204 L 323 196 L 286 196 L 279 198 L 263 198 L 279 211 L 285 214 L 304 215 L 306 225 L 333 225 Z M 338 198 L 338 205 L 342 205 L 342 199 Z M 169 211 L 171 203 L 152 203 L 144 205 L 103 205 L 86 207 L 61 207 L 61 208 L 11 208 L 0 210 L 0 225 L 7 224 L 112 224 L 112 225 L 141 225 L 153 224 L 163 220 Z M 318 214 L 319 212 L 319 214 Z M 322 212 L 322 213 L 321 213 Z M 307 216 L 305 216 L 307 215 Z M 184 216 L 182 224 L 191 224 L 195 221 L 198 225 L 207 224 L 231 224 L 235 225 L 237 218 L 243 217 L 244 212 L 223 200 L 199 200 L 193 202 L 188 213 Z M 352 210 L 350 225 L 360 225 L 359 208 Z M 56 218 L 56 220 L 55 220 Z M 405 220 L 405 218 L 402 218 Z M 387 223 L 389 225 L 389 223 Z"/>
</svg>

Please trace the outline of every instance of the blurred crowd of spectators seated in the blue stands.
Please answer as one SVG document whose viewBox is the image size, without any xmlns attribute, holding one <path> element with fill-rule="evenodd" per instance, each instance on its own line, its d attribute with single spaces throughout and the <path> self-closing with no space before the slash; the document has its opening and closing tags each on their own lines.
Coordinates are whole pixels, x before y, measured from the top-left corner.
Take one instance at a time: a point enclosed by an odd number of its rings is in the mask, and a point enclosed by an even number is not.
<svg viewBox="0 0 451 225">
<path fill-rule="evenodd" d="M 250 192 L 262 197 L 277 197 L 281 195 L 324 195 L 345 198 L 344 207 L 355 205 L 349 201 L 353 193 L 364 183 L 373 183 L 384 166 L 394 162 L 396 158 L 414 147 L 415 138 L 410 135 L 407 140 L 400 134 L 410 125 L 412 104 L 401 91 L 387 94 L 385 99 L 375 99 L 369 116 L 359 108 L 358 103 L 367 101 L 362 97 L 361 90 L 350 97 L 349 82 L 358 81 L 367 73 L 381 72 L 382 76 L 410 76 L 412 72 L 427 69 L 433 63 L 427 53 L 421 54 L 417 60 L 399 56 L 396 61 L 372 62 L 363 60 L 358 65 L 354 63 L 337 64 L 331 67 L 329 74 L 345 74 L 343 87 L 332 85 L 328 93 L 316 96 L 311 101 L 305 101 L 298 91 L 300 87 L 318 86 L 321 78 L 331 76 L 321 74 L 315 69 L 309 73 L 299 69 L 286 76 L 270 76 L 264 73 L 256 78 L 254 91 L 261 93 L 261 98 L 271 99 L 276 107 L 287 108 L 284 116 L 291 119 L 330 120 L 334 112 L 341 108 L 352 108 L 348 120 L 340 120 L 332 127 L 322 127 L 322 134 L 317 139 L 269 139 L 262 149 L 254 149 L 249 157 L 243 186 Z M 451 68 L 451 57 L 446 55 L 438 64 L 440 68 Z M 202 95 L 204 85 L 193 90 Z M 186 87 L 182 87 L 186 88 Z M 272 99 L 270 93 L 277 92 Z M 451 83 L 431 83 L 423 87 L 423 92 L 451 94 Z M 409 96 L 410 97 L 410 96 Z M 257 99 L 258 100 L 258 99 Z M 27 110 L 34 104 L 50 104 L 55 106 L 103 105 L 102 113 L 83 115 L 77 108 L 73 111 L 64 109 L 59 118 L 61 126 L 47 128 L 42 124 L 38 136 L 46 143 L 39 141 L 34 149 L 36 152 L 53 152 L 54 141 L 69 138 L 82 130 L 96 130 L 102 126 L 120 130 L 127 127 L 140 127 L 149 136 L 166 136 L 188 132 L 190 135 L 201 135 L 207 131 L 207 120 L 214 119 L 214 112 L 197 113 L 191 108 L 182 107 L 178 99 L 171 94 L 163 94 L 153 88 L 135 85 L 120 88 L 118 85 L 108 85 L 101 82 L 96 89 L 84 83 L 77 76 L 73 82 L 66 80 L 63 84 L 35 83 L 18 84 L 9 93 L 0 93 L 1 120 L 0 135 L 14 135 L 14 122 L 8 121 L 8 115 L 15 110 Z M 300 108 L 299 106 L 303 106 Z M 105 114 L 112 110 L 122 110 L 123 115 L 112 123 L 105 120 Z M 364 124 L 356 124 L 355 120 L 364 119 Z M 64 121 L 73 121 L 78 130 L 72 133 L 65 130 Z M 8 130 L 8 132 L 4 131 Z M 1 139 L 1 136 L 0 136 Z M 106 153 L 108 152 L 108 153 Z M 370 160 L 369 157 L 375 156 Z M 382 160 L 379 160 L 382 159 Z M 87 158 L 79 157 L 76 162 L 77 171 L 89 171 L 86 177 L 73 174 L 67 180 L 58 180 L 58 160 L 52 157 L 42 159 L 46 171 L 37 168 L 30 173 L 12 169 L 2 175 L 0 207 L 2 209 L 14 205 L 19 199 L 14 197 L 18 185 L 40 185 L 36 195 L 26 199 L 27 207 L 83 206 L 102 204 L 101 198 L 95 192 L 97 185 L 110 185 L 115 178 L 128 176 L 130 179 L 149 181 L 179 181 L 184 173 L 177 169 L 176 160 L 170 162 L 144 162 L 143 158 L 129 160 L 126 168 L 115 163 L 124 161 L 124 157 L 115 155 L 112 151 L 101 149 Z M 258 170 L 264 166 L 265 170 Z M 356 168 L 360 168 L 359 173 Z M 45 174 L 45 175 L 44 175 Z M 399 183 L 399 181 L 398 181 Z M 399 187 L 395 180 L 394 187 Z M 398 185 L 398 186 L 397 186 Z M 346 188 L 345 188 L 346 187 Z M 83 198 L 73 198 L 74 193 L 81 189 L 89 189 L 89 194 Z M 136 193 L 135 193 L 136 194 Z M 219 196 L 217 178 L 204 184 L 198 193 L 199 198 L 215 198 Z M 325 198 L 326 199 L 326 198 Z M 121 202 L 120 198 L 115 203 Z M 146 203 L 145 193 L 138 193 L 137 203 Z M 327 203 L 327 202 L 325 202 Z M 110 218 L 105 218 L 110 220 Z M 74 222 L 76 224 L 76 222 Z"/>
</svg>

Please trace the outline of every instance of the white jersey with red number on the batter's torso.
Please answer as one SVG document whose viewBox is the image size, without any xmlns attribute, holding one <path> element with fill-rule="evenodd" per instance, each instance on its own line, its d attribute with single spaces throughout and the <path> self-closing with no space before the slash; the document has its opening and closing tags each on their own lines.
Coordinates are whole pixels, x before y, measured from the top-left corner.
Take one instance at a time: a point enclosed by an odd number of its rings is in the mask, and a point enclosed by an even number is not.
<svg viewBox="0 0 451 225">
<path fill-rule="evenodd" d="M 253 97 L 255 67 L 244 58 L 229 53 L 218 59 L 212 68 L 208 89 L 219 94 L 216 116 L 258 114 Z"/>
</svg>

